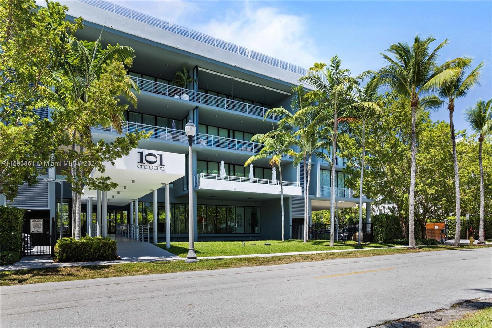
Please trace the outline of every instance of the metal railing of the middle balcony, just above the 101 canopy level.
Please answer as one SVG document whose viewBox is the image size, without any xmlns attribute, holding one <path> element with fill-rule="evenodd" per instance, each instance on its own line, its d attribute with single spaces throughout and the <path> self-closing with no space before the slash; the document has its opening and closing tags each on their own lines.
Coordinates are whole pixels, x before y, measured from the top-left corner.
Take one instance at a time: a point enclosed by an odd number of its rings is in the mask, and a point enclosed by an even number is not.
<svg viewBox="0 0 492 328">
<path fill-rule="evenodd" d="M 93 127 L 92 130 L 118 133 L 118 131 L 116 131 L 112 127 L 103 128 L 100 125 L 98 127 Z M 149 140 L 175 141 L 188 144 L 188 137 L 186 136 L 186 133 L 182 130 L 156 127 L 153 125 L 141 123 L 124 122 L 123 133 L 131 133 L 134 131 L 153 131 L 152 136 L 149 138 Z M 205 133 L 196 134 L 193 143 L 199 146 L 230 149 L 251 154 L 259 153 L 260 150 L 262 150 L 264 147 L 263 144 L 256 142 L 225 138 Z M 292 156 L 290 155 L 283 155 L 283 157 L 289 159 L 292 158 Z"/>
</svg>

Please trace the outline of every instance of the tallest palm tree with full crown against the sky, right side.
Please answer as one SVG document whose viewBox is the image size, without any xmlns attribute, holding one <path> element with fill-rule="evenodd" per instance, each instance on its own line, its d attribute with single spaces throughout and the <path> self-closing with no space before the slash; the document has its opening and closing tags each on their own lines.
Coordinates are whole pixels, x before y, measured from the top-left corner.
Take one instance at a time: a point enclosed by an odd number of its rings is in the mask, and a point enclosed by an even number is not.
<svg viewBox="0 0 492 328">
<path fill-rule="evenodd" d="M 455 78 L 460 69 L 451 65 L 458 62 L 453 60 L 438 66 L 437 55 L 439 50 L 448 44 L 444 40 L 432 52 L 429 49 L 435 41 L 433 36 L 424 39 L 419 34 L 415 36 L 413 45 L 407 43 L 395 43 L 386 50 L 393 55 L 382 54 L 389 63 L 379 70 L 379 82 L 388 85 L 400 95 L 410 99 L 412 110 L 412 134 L 411 134 L 411 169 L 410 191 L 408 201 L 408 248 L 415 249 L 414 215 L 415 215 L 415 160 L 417 156 L 415 123 L 417 109 L 420 108 L 420 97 L 431 93 L 445 82 Z"/>
</svg>

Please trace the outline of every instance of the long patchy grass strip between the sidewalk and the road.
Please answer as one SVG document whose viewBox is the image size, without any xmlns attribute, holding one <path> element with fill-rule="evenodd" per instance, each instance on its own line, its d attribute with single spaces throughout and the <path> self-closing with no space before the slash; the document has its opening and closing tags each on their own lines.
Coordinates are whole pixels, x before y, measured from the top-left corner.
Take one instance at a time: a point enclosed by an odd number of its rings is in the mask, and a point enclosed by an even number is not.
<svg viewBox="0 0 492 328">
<path fill-rule="evenodd" d="M 418 250 L 406 248 L 374 249 L 364 252 L 340 252 L 305 254 L 292 256 L 274 257 L 251 257 L 251 258 L 229 258 L 218 260 L 202 260 L 196 263 L 184 263 L 184 261 L 169 262 L 132 262 L 111 265 L 87 265 L 72 267 L 54 267 L 42 269 L 23 269 L 12 271 L 0 271 L 0 286 L 36 284 L 54 281 L 68 281 L 79 279 L 95 279 L 107 277 L 122 277 L 155 273 L 170 273 L 184 271 L 202 271 L 233 267 L 249 267 L 258 265 L 275 265 L 292 262 L 313 262 L 333 259 L 363 258 L 378 255 L 395 255 L 406 253 L 421 253 L 431 251 L 460 251 L 470 248 L 481 248 L 488 246 L 462 246 L 455 248 L 447 245 L 423 246 Z"/>
</svg>

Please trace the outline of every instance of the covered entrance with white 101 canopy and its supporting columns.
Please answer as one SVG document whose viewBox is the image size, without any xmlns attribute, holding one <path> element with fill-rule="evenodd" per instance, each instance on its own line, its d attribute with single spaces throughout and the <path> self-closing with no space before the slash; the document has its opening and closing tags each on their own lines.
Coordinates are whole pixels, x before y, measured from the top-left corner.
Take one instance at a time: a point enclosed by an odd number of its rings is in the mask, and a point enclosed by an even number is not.
<svg viewBox="0 0 492 328">
<path fill-rule="evenodd" d="M 165 187 L 166 204 L 169 204 L 169 184 L 185 174 L 183 154 L 160 152 L 148 149 L 133 149 L 128 156 L 105 163 L 105 171 L 93 170 L 91 176 L 111 177 L 118 187 L 110 191 L 91 190 L 86 187 L 83 200 L 87 204 L 87 217 L 93 218 L 87 227 L 90 236 L 116 234 L 139 241 L 150 241 L 150 225 L 143 222 L 139 213 L 138 199 L 150 192 L 153 194 L 154 218 L 157 217 L 157 189 Z M 95 207 L 95 213 L 93 213 Z M 140 218 L 140 220 L 139 220 Z M 169 206 L 166 206 L 166 225 L 169 224 Z M 166 227 L 166 244 L 170 234 Z M 154 243 L 157 243 L 157 220 L 153 223 Z M 170 245 L 169 245 L 170 246 Z"/>
</svg>

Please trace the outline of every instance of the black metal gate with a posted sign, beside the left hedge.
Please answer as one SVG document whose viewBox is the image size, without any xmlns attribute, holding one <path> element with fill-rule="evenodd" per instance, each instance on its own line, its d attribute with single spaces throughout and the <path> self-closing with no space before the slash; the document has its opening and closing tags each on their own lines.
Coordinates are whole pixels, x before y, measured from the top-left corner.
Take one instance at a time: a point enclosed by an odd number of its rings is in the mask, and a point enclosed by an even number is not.
<svg viewBox="0 0 492 328">
<path fill-rule="evenodd" d="M 24 219 L 22 254 L 54 255 L 56 234 L 55 218 Z"/>
</svg>

